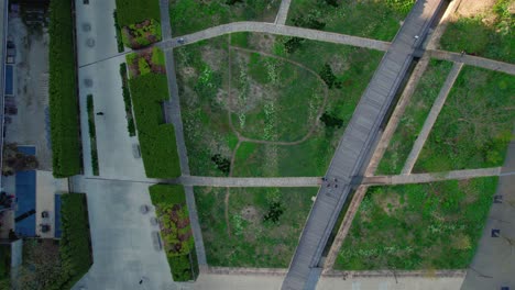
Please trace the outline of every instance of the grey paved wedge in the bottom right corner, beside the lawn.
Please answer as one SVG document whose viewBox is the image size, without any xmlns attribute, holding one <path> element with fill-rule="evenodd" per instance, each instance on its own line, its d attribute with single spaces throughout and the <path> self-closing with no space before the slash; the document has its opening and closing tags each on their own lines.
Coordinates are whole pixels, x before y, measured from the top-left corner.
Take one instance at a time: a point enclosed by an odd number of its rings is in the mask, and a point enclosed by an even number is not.
<svg viewBox="0 0 515 290">
<path fill-rule="evenodd" d="M 515 134 L 515 131 L 513 132 Z M 463 290 L 515 289 L 515 140 L 508 145 L 501 170 L 497 192 L 502 203 L 493 203 L 483 230 L 478 252 L 470 265 Z M 501 230 L 501 237 L 492 237 L 492 228 Z"/>
</svg>

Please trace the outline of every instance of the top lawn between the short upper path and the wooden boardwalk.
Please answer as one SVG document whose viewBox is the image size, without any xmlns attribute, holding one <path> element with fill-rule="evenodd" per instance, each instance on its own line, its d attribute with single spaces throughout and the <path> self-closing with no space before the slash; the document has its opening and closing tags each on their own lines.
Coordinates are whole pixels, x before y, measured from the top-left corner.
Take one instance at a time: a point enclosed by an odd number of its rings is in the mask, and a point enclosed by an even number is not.
<svg viewBox="0 0 515 290">
<path fill-rule="evenodd" d="M 414 0 L 292 1 L 287 25 L 392 41 Z"/>
</svg>

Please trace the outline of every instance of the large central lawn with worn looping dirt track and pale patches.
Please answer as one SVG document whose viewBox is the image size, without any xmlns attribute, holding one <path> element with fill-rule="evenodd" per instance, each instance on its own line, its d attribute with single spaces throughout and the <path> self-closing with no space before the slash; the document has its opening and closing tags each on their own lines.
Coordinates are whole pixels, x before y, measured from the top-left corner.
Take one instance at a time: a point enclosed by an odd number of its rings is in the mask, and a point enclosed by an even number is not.
<svg viewBox="0 0 515 290">
<path fill-rule="evenodd" d="M 322 174 L 382 56 L 258 33 L 174 52 L 186 145 L 196 157 L 191 171 L 206 176 L 229 174 L 237 134 L 243 141 L 299 143 L 242 142 L 234 175 Z"/>
</svg>

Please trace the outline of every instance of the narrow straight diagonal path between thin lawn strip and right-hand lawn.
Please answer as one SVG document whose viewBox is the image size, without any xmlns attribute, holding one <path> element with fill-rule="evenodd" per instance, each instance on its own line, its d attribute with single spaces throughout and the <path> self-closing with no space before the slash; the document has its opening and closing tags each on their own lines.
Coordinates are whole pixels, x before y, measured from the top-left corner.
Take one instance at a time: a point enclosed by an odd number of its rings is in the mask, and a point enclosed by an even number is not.
<svg viewBox="0 0 515 290">
<path fill-rule="evenodd" d="M 435 100 L 435 103 L 432 104 L 431 110 L 427 115 L 426 122 L 424 122 L 424 126 L 420 130 L 420 133 L 418 133 L 417 140 L 413 145 L 412 152 L 409 152 L 409 155 L 406 158 L 406 163 L 404 164 L 401 174 L 408 175 L 412 172 L 413 167 L 418 159 L 418 155 L 420 154 L 424 144 L 426 143 L 426 140 L 429 136 L 429 133 L 431 132 L 431 129 L 435 125 L 435 122 L 438 119 L 443 104 L 446 103 L 447 96 L 449 96 L 449 92 L 452 89 L 452 86 L 454 85 L 454 81 L 458 78 L 462 67 L 462 63 L 454 63 L 452 66 L 451 71 L 447 76 L 446 82 L 443 82 L 443 86 L 440 89 L 438 98 Z"/>
</svg>

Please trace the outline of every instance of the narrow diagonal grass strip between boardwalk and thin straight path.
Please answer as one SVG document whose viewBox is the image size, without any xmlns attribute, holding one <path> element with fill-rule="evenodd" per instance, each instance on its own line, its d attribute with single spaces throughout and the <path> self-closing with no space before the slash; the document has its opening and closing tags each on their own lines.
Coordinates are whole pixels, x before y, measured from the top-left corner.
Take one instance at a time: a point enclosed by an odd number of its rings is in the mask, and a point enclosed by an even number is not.
<svg viewBox="0 0 515 290">
<path fill-rule="evenodd" d="M 431 59 L 421 76 L 406 110 L 401 118 L 383 159 L 377 167 L 379 175 L 398 175 L 404 167 L 418 133 L 431 110 L 452 67 L 451 63 Z"/>
</svg>

